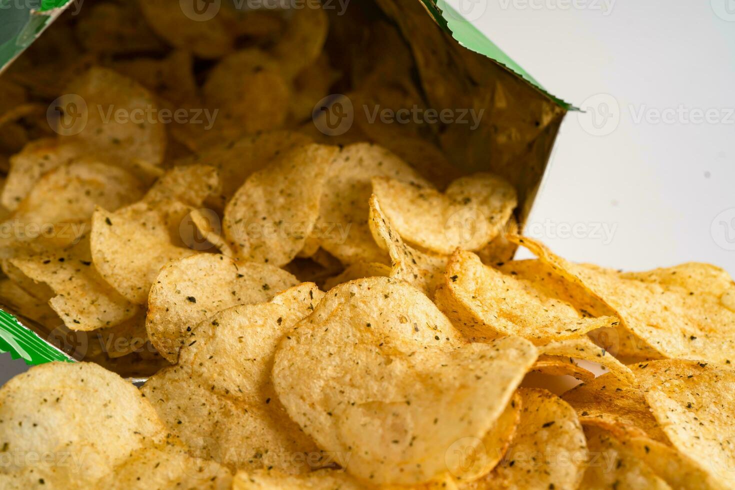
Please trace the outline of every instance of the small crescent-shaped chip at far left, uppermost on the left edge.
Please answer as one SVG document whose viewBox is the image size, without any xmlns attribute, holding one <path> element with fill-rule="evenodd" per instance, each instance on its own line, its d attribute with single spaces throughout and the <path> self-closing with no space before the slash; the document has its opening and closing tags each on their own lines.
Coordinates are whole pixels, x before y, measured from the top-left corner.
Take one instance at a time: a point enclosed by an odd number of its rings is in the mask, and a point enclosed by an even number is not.
<svg viewBox="0 0 735 490">
<path fill-rule="evenodd" d="M 10 173 L 7 176 L 7 185 L 3 188 L 2 205 L 14 210 L 44 173 L 71 163 L 82 154 L 79 145 L 63 143 L 56 138 L 43 138 L 28 143 L 23 151 L 10 158 Z"/>
</svg>

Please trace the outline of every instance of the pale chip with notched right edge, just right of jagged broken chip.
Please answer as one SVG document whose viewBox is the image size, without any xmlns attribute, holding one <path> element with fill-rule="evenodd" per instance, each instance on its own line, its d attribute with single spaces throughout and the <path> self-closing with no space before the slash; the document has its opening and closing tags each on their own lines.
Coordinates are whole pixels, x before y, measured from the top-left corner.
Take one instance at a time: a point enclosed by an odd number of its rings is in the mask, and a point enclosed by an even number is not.
<svg viewBox="0 0 735 490">
<path fill-rule="evenodd" d="M 145 304 L 163 265 L 198 253 L 184 247 L 179 234 L 189 211 L 179 201 L 140 201 L 117 212 L 98 208 L 90 238 L 95 267 L 124 298 Z"/>
</svg>

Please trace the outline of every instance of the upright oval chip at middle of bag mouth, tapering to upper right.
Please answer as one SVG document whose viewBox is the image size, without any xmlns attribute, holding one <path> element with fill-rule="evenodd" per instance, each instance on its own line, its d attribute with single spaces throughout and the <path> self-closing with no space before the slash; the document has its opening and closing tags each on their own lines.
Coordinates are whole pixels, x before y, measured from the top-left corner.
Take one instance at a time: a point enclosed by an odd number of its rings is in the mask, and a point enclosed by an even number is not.
<svg viewBox="0 0 735 490">
<path fill-rule="evenodd" d="M 223 230 L 236 256 L 282 266 L 304 248 L 319 216 L 336 146 L 306 145 L 252 174 L 225 209 Z"/>
</svg>

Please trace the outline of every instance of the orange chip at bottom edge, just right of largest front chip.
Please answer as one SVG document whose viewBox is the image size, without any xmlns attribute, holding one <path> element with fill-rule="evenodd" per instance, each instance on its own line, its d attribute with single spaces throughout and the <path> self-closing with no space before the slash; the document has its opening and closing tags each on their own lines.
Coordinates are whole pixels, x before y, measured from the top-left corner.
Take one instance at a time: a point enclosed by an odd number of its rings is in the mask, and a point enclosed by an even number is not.
<svg viewBox="0 0 735 490">
<path fill-rule="evenodd" d="M 519 393 L 520 423 L 503 461 L 462 488 L 576 489 L 589 453 L 573 408 L 543 389 Z"/>
</svg>

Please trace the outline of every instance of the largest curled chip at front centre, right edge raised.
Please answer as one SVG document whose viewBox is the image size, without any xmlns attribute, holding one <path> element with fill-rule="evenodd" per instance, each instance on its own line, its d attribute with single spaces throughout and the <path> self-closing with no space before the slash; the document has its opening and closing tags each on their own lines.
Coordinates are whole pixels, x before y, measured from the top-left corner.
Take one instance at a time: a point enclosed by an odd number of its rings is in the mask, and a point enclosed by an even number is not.
<svg viewBox="0 0 735 490">
<path fill-rule="evenodd" d="M 535 359 L 517 337 L 465 344 L 425 295 L 376 277 L 331 289 L 282 339 L 273 384 L 323 450 L 352 451 L 352 475 L 423 483 L 459 439 L 482 444 Z"/>
</svg>

